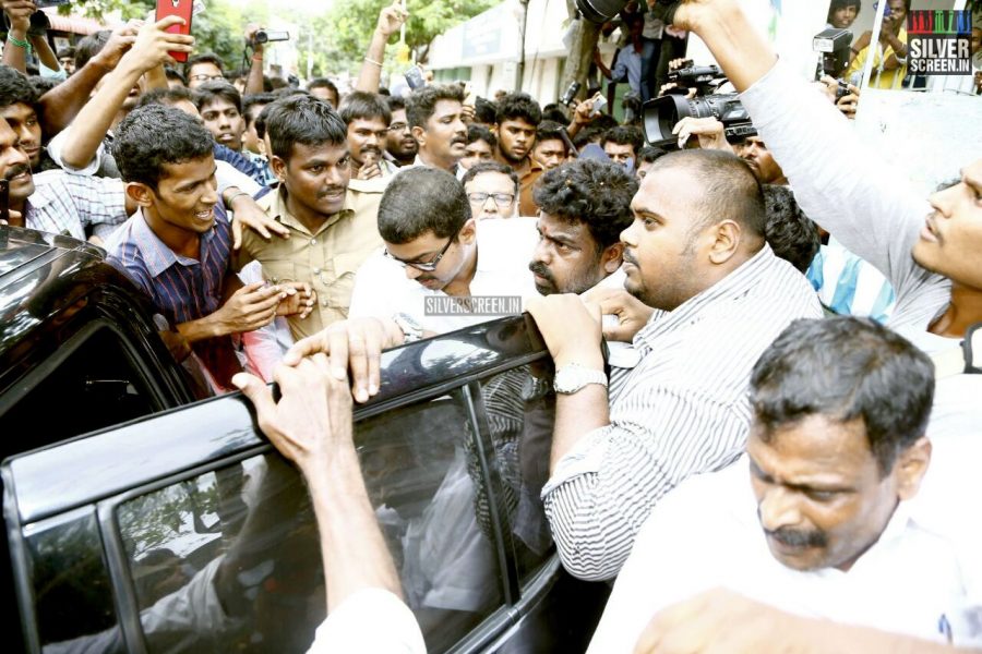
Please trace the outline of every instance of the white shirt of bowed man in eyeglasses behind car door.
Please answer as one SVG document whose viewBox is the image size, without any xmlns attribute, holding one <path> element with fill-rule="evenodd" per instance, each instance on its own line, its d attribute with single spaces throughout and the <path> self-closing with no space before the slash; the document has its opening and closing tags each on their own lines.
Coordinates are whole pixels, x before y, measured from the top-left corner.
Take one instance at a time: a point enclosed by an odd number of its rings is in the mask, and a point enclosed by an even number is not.
<svg viewBox="0 0 982 654">
<path fill-rule="evenodd" d="M 527 298 L 536 294 L 528 269 L 539 235 L 536 221 L 526 218 L 481 220 L 477 228 L 477 269 L 470 296 Z M 369 256 L 355 277 L 349 318 L 391 318 L 403 313 L 423 331 L 446 334 L 493 320 L 501 315 L 429 315 L 427 300 L 448 298 L 406 277 L 403 265 L 386 257 L 384 250 Z M 431 305 L 432 306 L 432 305 Z M 520 313 L 520 305 L 518 312 Z M 507 315 L 507 314 L 502 314 Z"/>
</svg>

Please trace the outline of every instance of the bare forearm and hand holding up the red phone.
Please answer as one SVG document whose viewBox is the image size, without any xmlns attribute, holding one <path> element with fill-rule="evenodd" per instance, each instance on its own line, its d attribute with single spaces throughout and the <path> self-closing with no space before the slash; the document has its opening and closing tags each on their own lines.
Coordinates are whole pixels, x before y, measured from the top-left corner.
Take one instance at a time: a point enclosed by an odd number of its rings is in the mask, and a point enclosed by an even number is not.
<svg viewBox="0 0 982 654">
<path fill-rule="evenodd" d="M 147 23 L 140 29 L 133 48 L 123 56 L 116 70 L 107 75 L 106 83 L 82 108 L 69 128 L 60 152 L 62 165 L 70 169 L 88 166 L 140 77 L 165 61 L 171 61 L 168 51 L 191 52 L 194 37 L 166 32 L 171 25 L 182 22 L 183 19 L 179 16 L 167 16 L 158 23 Z"/>
</svg>

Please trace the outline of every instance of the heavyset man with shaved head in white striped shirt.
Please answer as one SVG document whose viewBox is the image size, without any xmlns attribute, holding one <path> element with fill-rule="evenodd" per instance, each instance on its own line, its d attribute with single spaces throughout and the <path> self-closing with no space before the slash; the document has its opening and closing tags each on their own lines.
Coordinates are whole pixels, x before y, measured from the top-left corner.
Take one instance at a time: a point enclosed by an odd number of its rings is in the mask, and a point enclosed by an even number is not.
<svg viewBox="0 0 982 654">
<path fill-rule="evenodd" d="M 740 456 L 754 362 L 791 320 L 822 315 L 805 278 L 766 244 L 761 185 L 735 156 L 662 157 L 632 210 L 621 241 L 637 300 L 528 304 L 559 393 L 546 512 L 566 569 L 591 580 L 618 574 L 659 498 Z M 608 338 L 633 338 L 642 356 L 610 397 L 601 312 L 621 322 Z"/>
</svg>

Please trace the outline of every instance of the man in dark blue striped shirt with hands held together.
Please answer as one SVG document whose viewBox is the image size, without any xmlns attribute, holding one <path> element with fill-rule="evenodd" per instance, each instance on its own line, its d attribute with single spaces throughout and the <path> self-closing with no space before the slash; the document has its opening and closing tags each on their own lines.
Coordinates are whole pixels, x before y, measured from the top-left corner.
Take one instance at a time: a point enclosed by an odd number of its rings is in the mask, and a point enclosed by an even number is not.
<svg viewBox="0 0 982 654">
<path fill-rule="evenodd" d="M 230 337 L 276 315 L 309 313 L 312 300 L 309 287 L 242 286 L 230 270 L 231 230 L 218 202 L 212 145 L 204 125 L 179 109 L 132 111 L 120 123 L 113 155 L 140 209 L 107 250 L 177 331 L 172 340 L 190 344 L 217 387 L 228 389 L 241 372 Z"/>
</svg>

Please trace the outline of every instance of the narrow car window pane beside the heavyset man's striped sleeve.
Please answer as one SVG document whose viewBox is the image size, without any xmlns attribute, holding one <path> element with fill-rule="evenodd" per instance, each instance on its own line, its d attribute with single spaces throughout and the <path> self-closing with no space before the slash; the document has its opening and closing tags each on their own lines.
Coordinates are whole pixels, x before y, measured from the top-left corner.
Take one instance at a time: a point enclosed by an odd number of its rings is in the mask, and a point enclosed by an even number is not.
<svg viewBox="0 0 982 654">
<path fill-rule="evenodd" d="M 549 452 L 555 422 L 551 371 L 524 365 L 481 382 L 502 504 L 524 584 L 549 559 L 554 546 L 540 495 L 549 479 Z"/>
</svg>

